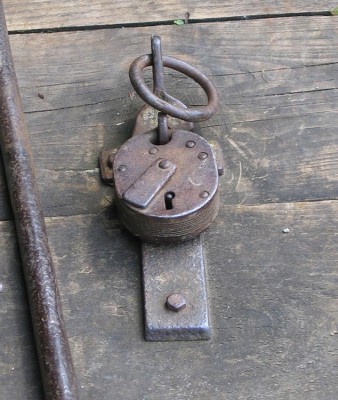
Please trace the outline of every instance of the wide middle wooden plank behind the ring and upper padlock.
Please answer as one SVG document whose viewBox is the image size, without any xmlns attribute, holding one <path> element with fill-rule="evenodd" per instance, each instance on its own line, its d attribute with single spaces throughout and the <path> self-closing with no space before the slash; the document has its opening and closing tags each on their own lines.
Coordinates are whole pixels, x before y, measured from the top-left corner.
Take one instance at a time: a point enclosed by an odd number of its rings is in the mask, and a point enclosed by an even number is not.
<svg viewBox="0 0 338 400">
<path fill-rule="evenodd" d="M 285 18 L 12 36 L 46 215 L 96 213 L 111 200 L 97 157 L 130 136 L 142 102 L 128 68 L 154 32 L 217 86 L 218 114 L 197 131 L 222 145 L 226 204 L 337 199 L 338 25 Z M 167 72 L 166 85 L 187 104 L 204 101 L 182 76 Z M 0 193 L 8 219 L 3 184 Z"/>
</svg>

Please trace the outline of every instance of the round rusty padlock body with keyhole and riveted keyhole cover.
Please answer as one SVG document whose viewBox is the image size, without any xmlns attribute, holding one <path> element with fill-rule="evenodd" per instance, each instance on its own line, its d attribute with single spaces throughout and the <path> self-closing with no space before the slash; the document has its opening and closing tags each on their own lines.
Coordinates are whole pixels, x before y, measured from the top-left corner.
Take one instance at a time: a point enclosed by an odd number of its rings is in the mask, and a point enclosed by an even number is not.
<svg viewBox="0 0 338 400">
<path fill-rule="evenodd" d="M 143 240 L 182 241 L 198 236 L 219 207 L 218 171 L 209 143 L 183 130 L 165 145 L 156 131 L 129 139 L 116 153 L 116 206 L 126 228 Z"/>
</svg>

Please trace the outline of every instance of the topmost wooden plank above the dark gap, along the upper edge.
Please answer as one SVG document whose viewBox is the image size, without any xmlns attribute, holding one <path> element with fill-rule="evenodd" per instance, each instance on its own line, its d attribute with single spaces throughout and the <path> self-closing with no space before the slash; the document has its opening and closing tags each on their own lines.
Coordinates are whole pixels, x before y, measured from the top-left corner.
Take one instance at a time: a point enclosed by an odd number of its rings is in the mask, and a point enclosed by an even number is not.
<svg viewBox="0 0 338 400">
<path fill-rule="evenodd" d="M 185 19 L 231 18 L 253 15 L 276 15 L 325 12 L 337 6 L 335 1 L 321 0 L 4 0 L 9 30 L 48 29 L 79 26 L 140 24 Z"/>
</svg>

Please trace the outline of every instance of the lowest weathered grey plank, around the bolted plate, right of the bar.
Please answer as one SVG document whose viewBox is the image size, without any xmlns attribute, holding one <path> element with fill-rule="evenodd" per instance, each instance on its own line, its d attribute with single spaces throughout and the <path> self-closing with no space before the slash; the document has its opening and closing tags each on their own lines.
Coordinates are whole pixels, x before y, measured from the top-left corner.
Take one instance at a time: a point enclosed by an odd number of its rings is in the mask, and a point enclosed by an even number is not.
<svg viewBox="0 0 338 400">
<path fill-rule="evenodd" d="M 337 216 L 337 201 L 222 205 L 204 236 L 213 337 L 196 343 L 143 340 L 139 249 L 114 219 L 49 218 L 81 399 L 333 400 Z"/>
</svg>

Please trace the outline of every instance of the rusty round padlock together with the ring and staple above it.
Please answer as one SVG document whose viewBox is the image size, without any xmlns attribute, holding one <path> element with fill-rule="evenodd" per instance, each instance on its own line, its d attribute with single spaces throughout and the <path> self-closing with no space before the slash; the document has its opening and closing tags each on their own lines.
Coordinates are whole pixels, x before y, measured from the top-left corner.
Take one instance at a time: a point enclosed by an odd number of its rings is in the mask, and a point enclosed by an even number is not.
<svg viewBox="0 0 338 400">
<path fill-rule="evenodd" d="M 114 155 L 112 181 L 118 214 L 126 228 L 143 240 L 168 242 L 192 239 L 212 223 L 218 212 L 218 175 L 223 168 L 217 165 L 218 148 L 192 132 L 191 124 L 215 113 L 214 86 L 189 64 L 162 57 L 160 46 L 160 39 L 153 37 L 152 54 L 137 58 L 130 67 L 135 91 L 160 111 L 158 126 L 147 132 L 145 126 L 140 129 L 149 106 L 141 110 L 134 136 Z M 150 65 L 154 93 L 142 78 L 142 70 Z M 206 91 L 208 104 L 187 108 L 167 95 L 163 66 L 192 77 Z"/>
</svg>

